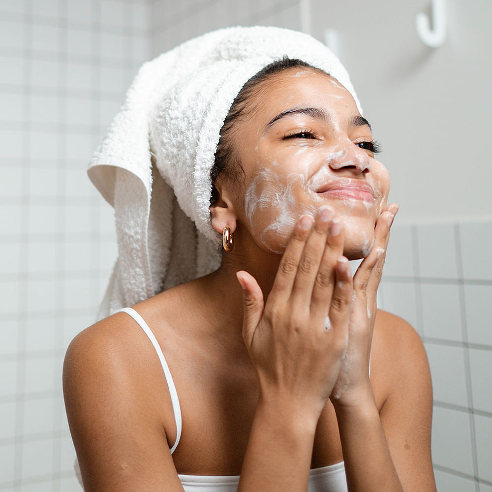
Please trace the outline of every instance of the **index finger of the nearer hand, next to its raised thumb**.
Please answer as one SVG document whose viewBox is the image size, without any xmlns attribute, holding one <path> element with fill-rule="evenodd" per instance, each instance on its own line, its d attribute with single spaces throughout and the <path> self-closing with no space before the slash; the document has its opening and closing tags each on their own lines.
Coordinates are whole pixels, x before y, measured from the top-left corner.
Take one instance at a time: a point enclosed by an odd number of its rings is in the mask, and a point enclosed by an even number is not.
<svg viewBox="0 0 492 492">
<path fill-rule="evenodd" d="M 269 298 L 288 299 L 297 275 L 299 261 L 312 229 L 314 218 L 312 215 L 303 215 L 294 228 L 291 239 L 280 259 L 277 275 L 275 276 Z"/>
</svg>

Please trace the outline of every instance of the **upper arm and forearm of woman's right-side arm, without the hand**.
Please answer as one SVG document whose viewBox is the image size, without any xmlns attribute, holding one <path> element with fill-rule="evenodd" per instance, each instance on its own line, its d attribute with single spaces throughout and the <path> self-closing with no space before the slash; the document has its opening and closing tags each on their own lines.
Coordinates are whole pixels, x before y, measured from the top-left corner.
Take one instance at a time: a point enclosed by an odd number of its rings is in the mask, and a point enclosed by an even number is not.
<svg viewBox="0 0 492 492">
<path fill-rule="evenodd" d="M 350 491 L 435 491 L 431 463 L 432 388 L 422 342 L 413 328 L 378 311 L 372 393 L 352 405 L 335 403 Z"/>
</svg>

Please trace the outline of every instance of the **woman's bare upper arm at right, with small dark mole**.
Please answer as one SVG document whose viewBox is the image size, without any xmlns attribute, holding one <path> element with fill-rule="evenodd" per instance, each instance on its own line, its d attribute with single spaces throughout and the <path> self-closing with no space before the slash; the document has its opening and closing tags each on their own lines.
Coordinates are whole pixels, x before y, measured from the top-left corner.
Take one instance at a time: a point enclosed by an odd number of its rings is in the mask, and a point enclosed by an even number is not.
<svg viewBox="0 0 492 492">
<path fill-rule="evenodd" d="M 398 316 L 378 311 L 373 340 L 375 377 L 388 447 L 404 490 L 434 491 L 431 462 L 432 385 L 424 345 Z"/>
</svg>

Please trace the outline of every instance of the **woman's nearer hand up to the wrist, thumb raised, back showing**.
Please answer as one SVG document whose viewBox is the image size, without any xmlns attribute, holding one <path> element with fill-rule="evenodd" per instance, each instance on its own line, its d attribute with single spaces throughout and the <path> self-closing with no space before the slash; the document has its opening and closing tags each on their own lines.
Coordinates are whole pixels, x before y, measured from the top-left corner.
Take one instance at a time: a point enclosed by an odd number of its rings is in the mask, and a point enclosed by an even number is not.
<svg viewBox="0 0 492 492">
<path fill-rule="evenodd" d="M 344 231 L 330 207 L 297 223 L 264 302 L 258 283 L 238 272 L 243 338 L 256 367 L 260 399 L 314 422 L 328 400 L 347 346 L 352 274 Z M 331 327 L 327 328 L 327 318 Z"/>
</svg>

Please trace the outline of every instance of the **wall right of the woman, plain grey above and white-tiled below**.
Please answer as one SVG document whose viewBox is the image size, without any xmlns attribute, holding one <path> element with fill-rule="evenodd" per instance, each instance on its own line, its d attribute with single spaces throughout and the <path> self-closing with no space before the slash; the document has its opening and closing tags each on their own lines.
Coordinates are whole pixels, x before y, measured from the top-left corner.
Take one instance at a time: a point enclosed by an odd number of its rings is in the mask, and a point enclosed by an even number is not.
<svg viewBox="0 0 492 492">
<path fill-rule="evenodd" d="M 447 38 L 417 35 L 430 0 L 311 0 L 311 33 L 332 29 L 400 204 L 380 306 L 424 339 L 434 385 L 438 491 L 492 492 L 491 128 L 484 62 L 492 2 L 447 0 Z"/>
</svg>

